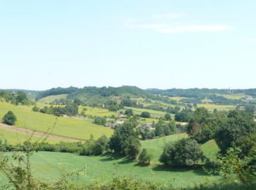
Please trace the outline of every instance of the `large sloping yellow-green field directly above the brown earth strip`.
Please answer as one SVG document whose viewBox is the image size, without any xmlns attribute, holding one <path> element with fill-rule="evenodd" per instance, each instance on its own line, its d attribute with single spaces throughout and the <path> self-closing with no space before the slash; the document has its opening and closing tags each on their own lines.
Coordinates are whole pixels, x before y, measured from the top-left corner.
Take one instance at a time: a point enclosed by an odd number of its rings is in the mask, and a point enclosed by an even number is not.
<svg viewBox="0 0 256 190">
<path fill-rule="evenodd" d="M 35 113 L 31 111 L 31 107 L 29 106 L 15 106 L 6 102 L 0 102 L 0 118 L 2 118 L 9 110 L 12 110 L 18 118 L 16 126 L 38 132 L 47 132 L 50 128 L 52 129 L 50 134 L 79 140 L 89 140 L 90 134 L 94 135 L 94 139 L 99 138 L 102 134 L 105 134 L 107 137 L 110 137 L 113 134 L 112 129 L 95 125 L 83 118 L 59 117 L 57 118 L 56 126 L 53 129 L 53 124 L 56 122 L 56 116 Z"/>
</svg>

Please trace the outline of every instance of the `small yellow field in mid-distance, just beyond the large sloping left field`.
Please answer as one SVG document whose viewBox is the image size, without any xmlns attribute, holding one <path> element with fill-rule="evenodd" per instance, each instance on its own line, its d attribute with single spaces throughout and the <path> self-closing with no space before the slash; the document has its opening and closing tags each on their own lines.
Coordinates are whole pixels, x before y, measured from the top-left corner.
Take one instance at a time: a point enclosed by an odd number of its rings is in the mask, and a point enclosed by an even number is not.
<svg viewBox="0 0 256 190">
<path fill-rule="evenodd" d="M 91 116 L 100 116 L 100 117 L 111 116 L 111 115 L 118 116 L 118 113 L 116 112 L 110 112 L 107 109 L 103 109 L 99 107 L 89 107 L 89 106 L 80 106 L 79 113 L 81 113 L 83 109 L 86 109 L 85 111 L 86 115 L 91 115 Z"/>
</svg>

